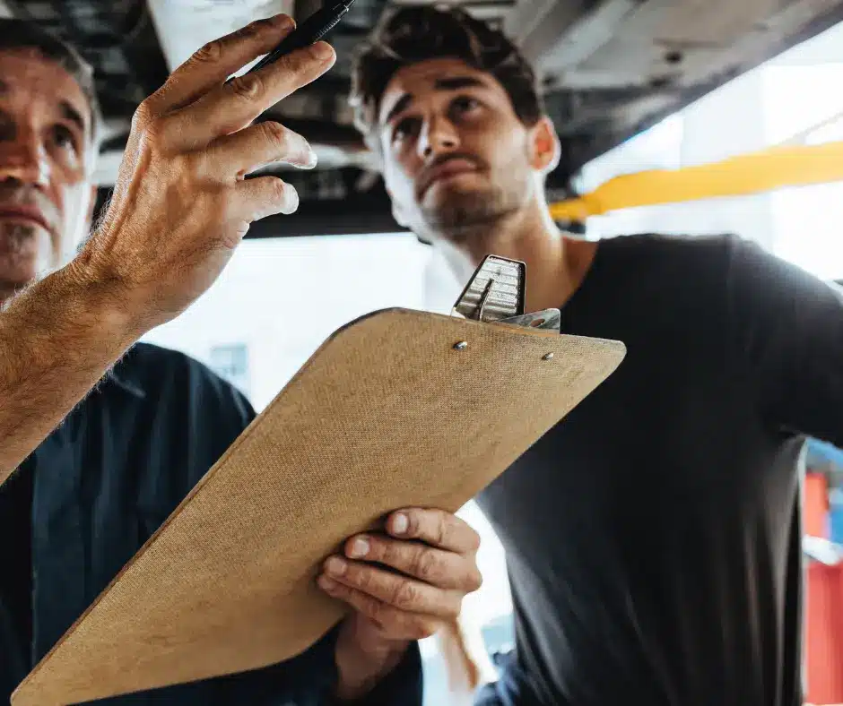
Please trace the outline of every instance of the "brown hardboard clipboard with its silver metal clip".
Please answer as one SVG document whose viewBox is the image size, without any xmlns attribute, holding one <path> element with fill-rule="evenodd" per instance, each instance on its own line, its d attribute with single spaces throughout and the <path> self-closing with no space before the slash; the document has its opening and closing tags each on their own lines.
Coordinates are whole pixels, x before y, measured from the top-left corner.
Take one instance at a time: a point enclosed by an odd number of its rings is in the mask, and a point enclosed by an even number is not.
<svg viewBox="0 0 843 706">
<path fill-rule="evenodd" d="M 13 706 L 247 671 L 317 641 L 345 613 L 315 583 L 345 538 L 401 507 L 456 511 L 621 363 L 622 343 L 524 314 L 524 274 L 491 256 L 451 316 L 387 309 L 335 331 Z"/>
</svg>

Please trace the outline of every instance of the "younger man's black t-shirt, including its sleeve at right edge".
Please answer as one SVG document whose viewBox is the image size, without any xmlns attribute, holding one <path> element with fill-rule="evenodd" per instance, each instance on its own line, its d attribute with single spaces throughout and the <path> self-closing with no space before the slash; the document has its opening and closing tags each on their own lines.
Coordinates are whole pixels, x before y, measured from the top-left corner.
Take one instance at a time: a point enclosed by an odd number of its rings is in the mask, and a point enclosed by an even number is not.
<svg viewBox="0 0 843 706">
<path fill-rule="evenodd" d="M 516 611 L 502 701 L 800 704 L 798 471 L 804 435 L 843 443 L 839 292 L 738 238 L 621 237 L 562 333 L 627 357 L 480 497 Z"/>
</svg>

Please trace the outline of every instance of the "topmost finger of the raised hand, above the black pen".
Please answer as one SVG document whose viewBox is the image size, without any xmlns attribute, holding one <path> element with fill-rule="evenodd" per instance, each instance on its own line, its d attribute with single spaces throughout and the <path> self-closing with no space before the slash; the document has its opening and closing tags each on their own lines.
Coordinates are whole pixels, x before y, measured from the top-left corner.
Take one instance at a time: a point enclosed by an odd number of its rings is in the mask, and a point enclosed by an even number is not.
<svg viewBox="0 0 843 706">
<path fill-rule="evenodd" d="M 286 14 L 249 22 L 199 48 L 169 75 L 163 86 L 147 100 L 156 113 L 183 108 L 224 82 L 253 59 L 266 54 L 296 23 Z"/>
</svg>

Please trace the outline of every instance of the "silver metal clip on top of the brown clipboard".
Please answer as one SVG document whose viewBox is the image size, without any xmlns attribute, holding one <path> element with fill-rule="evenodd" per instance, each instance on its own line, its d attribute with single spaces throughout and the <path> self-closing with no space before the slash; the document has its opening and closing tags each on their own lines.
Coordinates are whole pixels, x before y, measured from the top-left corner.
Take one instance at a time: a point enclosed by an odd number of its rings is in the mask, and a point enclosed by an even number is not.
<svg viewBox="0 0 843 706">
<path fill-rule="evenodd" d="M 451 310 L 452 316 L 508 326 L 559 331 L 559 309 L 524 313 L 526 264 L 486 255 Z"/>
</svg>

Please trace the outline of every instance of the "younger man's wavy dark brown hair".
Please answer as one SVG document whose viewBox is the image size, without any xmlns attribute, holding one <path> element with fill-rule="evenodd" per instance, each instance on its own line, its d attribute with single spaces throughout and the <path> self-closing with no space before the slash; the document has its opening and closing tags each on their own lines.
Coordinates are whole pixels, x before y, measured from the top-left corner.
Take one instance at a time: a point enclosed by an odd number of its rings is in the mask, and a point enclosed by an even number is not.
<svg viewBox="0 0 843 706">
<path fill-rule="evenodd" d="M 525 125 L 535 125 L 543 116 L 533 67 L 503 32 L 456 7 L 402 5 L 384 14 L 352 67 L 354 122 L 367 142 L 377 125 L 384 90 L 395 73 L 404 66 L 446 56 L 491 73 Z"/>
</svg>

